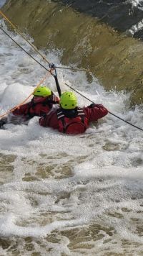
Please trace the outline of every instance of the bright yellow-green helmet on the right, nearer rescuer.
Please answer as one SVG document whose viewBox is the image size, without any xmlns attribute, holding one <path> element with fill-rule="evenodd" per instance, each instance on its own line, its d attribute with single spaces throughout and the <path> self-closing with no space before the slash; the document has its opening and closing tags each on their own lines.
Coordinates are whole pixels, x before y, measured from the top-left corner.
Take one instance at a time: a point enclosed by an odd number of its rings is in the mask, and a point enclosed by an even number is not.
<svg viewBox="0 0 143 256">
<path fill-rule="evenodd" d="M 77 106 L 77 97 L 71 91 L 65 91 L 61 94 L 59 103 L 62 109 L 75 109 Z"/>
</svg>

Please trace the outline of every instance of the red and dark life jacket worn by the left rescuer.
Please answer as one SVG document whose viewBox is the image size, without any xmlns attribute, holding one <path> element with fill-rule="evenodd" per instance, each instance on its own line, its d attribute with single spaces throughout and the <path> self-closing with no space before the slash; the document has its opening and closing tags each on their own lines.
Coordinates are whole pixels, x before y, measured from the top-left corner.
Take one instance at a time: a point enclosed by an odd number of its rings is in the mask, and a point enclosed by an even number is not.
<svg viewBox="0 0 143 256">
<path fill-rule="evenodd" d="M 49 111 L 49 109 L 52 108 L 53 104 L 57 104 L 59 103 L 58 101 L 56 101 L 56 96 L 54 96 L 54 94 L 52 94 L 49 97 L 46 97 L 46 99 L 44 99 L 44 101 L 35 103 L 34 99 L 31 99 L 31 102 L 29 104 L 29 107 L 26 111 L 26 114 L 29 116 L 29 118 L 32 118 L 34 116 L 37 116 L 37 113 L 35 111 L 41 109 L 41 106 L 44 106 L 45 108 L 47 107 L 47 112 Z M 44 113 L 45 114 L 45 113 Z"/>
</svg>

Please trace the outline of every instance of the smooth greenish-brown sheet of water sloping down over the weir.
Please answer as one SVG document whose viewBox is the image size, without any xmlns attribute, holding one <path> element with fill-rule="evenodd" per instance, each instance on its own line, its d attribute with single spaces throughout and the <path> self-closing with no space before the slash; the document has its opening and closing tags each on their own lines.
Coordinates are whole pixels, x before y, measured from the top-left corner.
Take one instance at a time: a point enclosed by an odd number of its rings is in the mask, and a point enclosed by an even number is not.
<svg viewBox="0 0 143 256">
<path fill-rule="evenodd" d="M 132 104 L 142 103 L 143 42 L 60 1 L 13 0 L 3 11 L 39 49 L 61 50 L 61 63 L 89 68 L 107 90 L 127 90 Z"/>
</svg>

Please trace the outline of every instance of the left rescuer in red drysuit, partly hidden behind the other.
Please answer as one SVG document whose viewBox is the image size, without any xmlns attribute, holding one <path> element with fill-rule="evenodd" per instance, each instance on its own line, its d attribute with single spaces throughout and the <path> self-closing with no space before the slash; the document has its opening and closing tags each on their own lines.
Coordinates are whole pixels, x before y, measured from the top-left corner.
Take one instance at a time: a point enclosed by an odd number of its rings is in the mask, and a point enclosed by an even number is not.
<svg viewBox="0 0 143 256">
<path fill-rule="evenodd" d="M 37 87 L 33 95 L 34 97 L 30 102 L 19 106 L 6 118 L 1 119 L 0 127 L 9 122 L 19 124 L 34 116 L 43 116 L 51 110 L 54 104 L 59 104 L 59 98 L 46 86 Z"/>
</svg>

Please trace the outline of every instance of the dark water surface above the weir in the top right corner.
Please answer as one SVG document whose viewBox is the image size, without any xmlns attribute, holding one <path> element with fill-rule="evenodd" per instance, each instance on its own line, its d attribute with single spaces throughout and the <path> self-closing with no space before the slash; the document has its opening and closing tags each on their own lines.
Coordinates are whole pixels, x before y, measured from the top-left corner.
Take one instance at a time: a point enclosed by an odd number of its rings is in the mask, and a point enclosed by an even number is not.
<svg viewBox="0 0 143 256">
<path fill-rule="evenodd" d="M 58 1 L 57 1 L 58 2 Z M 131 1 L 119 0 L 61 0 L 79 12 L 97 17 L 119 32 L 125 32 L 143 18 L 143 3 L 133 6 Z M 143 29 L 134 33 L 134 37 L 143 39 Z"/>
</svg>

